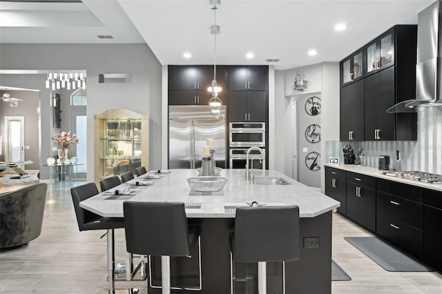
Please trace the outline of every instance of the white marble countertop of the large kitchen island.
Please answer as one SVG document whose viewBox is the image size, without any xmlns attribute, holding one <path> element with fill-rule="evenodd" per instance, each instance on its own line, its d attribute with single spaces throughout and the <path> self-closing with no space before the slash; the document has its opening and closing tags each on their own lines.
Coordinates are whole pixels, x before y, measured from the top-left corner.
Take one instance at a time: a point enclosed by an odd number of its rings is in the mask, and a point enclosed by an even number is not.
<svg viewBox="0 0 442 294">
<path fill-rule="evenodd" d="M 262 175 L 262 171 L 254 170 L 254 174 Z M 197 170 L 171 170 L 169 174 L 160 175 L 161 179 L 152 180 L 155 183 L 152 186 L 128 186 L 126 183 L 118 186 L 119 188 L 136 187 L 135 190 L 139 192 L 135 196 L 106 199 L 115 195 L 99 194 L 80 202 L 80 206 L 104 217 L 123 217 L 124 201 L 201 204 L 200 208 L 186 208 L 188 217 L 235 217 L 234 210 L 225 210 L 224 206 L 245 206 L 247 202 L 254 200 L 267 205 L 296 204 L 299 206 L 300 217 L 316 217 L 340 206 L 339 202 L 320 193 L 319 190 L 305 186 L 273 170 L 266 170 L 265 175 L 282 177 L 290 184 L 251 185 L 244 179 L 244 170 L 224 169 L 221 171 L 221 177 L 226 177 L 228 181 L 223 190 L 213 195 L 192 195 L 198 193 L 191 192 L 186 179 L 196 177 Z"/>
</svg>

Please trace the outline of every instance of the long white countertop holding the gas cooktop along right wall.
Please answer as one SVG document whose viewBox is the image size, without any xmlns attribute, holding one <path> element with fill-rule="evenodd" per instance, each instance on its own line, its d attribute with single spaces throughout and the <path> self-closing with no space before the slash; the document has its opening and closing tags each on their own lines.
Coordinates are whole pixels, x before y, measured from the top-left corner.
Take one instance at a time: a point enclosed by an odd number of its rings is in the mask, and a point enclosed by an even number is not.
<svg viewBox="0 0 442 294">
<path fill-rule="evenodd" d="M 390 181 L 399 182 L 403 184 L 409 184 L 413 186 L 419 186 L 431 190 L 442 191 L 442 184 L 428 184 L 425 182 L 413 181 L 411 179 L 401 179 L 398 177 L 392 177 L 390 175 L 383 175 L 384 170 L 378 170 L 378 168 L 372 168 L 371 166 L 357 166 L 354 164 L 324 164 L 331 168 L 338 168 L 340 170 L 347 170 L 352 173 L 360 173 L 361 175 L 369 175 L 372 177 L 378 177 L 381 179 L 388 179 Z"/>
</svg>

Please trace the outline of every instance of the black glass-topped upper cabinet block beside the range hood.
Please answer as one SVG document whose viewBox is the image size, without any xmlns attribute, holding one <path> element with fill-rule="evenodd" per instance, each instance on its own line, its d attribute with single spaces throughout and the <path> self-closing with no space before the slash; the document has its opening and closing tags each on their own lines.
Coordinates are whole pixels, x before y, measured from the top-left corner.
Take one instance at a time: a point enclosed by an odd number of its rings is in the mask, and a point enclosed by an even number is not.
<svg viewBox="0 0 442 294">
<path fill-rule="evenodd" d="M 416 95 L 416 47 L 417 26 L 398 25 L 340 62 L 341 140 L 416 140 L 416 113 L 387 112 Z"/>
</svg>

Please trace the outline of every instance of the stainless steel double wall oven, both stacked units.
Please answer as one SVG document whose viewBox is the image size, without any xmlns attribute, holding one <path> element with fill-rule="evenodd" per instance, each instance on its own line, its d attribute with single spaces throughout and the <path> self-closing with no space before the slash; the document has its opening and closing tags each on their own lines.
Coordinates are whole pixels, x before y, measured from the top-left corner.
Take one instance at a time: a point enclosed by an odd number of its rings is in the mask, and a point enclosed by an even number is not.
<svg viewBox="0 0 442 294">
<path fill-rule="evenodd" d="M 245 168 L 250 147 L 265 150 L 265 122 L 231 122 L 229 124 L 229 166 Z M 251 150 L 249 159 L 260 159 L 258 150 Z M 262 168 L 262 161 L 254 160 L 253 168 Z"/>
</svg>

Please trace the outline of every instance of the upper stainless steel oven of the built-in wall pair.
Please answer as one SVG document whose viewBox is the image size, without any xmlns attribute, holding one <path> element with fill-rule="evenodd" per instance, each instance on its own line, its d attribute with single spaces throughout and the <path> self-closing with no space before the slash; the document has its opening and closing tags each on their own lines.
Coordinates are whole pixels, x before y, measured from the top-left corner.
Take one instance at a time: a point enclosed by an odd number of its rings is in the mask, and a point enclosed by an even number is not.
<svg viewBox="0 0 442 294">
<path fill-rule="evenodd" d="M 231 122 L 230 147 L 265 147 L 265 122 Z"/>
</svg>

